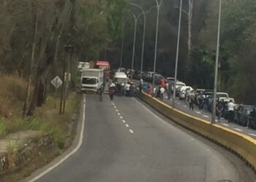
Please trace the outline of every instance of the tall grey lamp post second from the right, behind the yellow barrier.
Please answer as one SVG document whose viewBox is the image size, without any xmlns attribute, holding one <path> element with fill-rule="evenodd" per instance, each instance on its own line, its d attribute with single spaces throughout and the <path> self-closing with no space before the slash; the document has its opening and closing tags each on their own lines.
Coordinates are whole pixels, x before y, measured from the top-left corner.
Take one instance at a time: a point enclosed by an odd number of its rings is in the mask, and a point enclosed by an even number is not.
<svg viewBox="0 0 256 182">
<path fill-rule="evenodd" d="M 178 72 L 178 53 L 179 53 L 179 43 L 181 36 L 181 12 L 182 12 L 182 0 L 179 7 L 179 17 L 178 17 L 178 39 L 177 39 L 177 48 L 176 48 L 176 63 L 175 63 L 175 76 L 174 76 L 174 85 L 173 85 L 173 108 L 175 107 L 175 97 L 176 97 L 176 82 L 177 82 L 177 72 Z"/>
</svg>

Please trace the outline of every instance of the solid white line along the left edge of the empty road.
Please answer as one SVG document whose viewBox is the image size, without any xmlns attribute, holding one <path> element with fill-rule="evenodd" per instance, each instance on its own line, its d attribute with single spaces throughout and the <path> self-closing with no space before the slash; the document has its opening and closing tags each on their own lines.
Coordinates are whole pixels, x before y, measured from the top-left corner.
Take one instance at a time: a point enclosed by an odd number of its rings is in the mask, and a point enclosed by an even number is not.
<svg viewBox="0 0 256 182">
<path fill-rule="evenodd" d="M 83 123 L 82 123 L 82 127 L 81 127 L 81 130 L 80 130 L 80 138 L 79 138 L 79 141 L 78 141 L 78 146 L 76 146 L 75 149 L 73 149 L 69 154 L 67 154 L 66 156 L 61 158 L 59 160 L 59 162 L 55 163 L 54 165 L 49 167 L 47 170 L 43 171 L 42 173 L 40 173 L 39 175 L 37 175 L 36 177 L 31 179 L 29 182 L 34 182 L 34 181 L 37 181 L 39 178 L 42 178 L 42 176 L 46 175 L 51 170 L 53 170 L 56 167 L 58 167 L 59 165 L 61 165 L 61 163 L 66 161 L 69 157 L 71 157 L 73 154 L 75 154 L 78 151 L 78 149 L 80 149 L 80 146 L 82 146 L 82 144 L 83 144 L 83 131 L 84 131 L 85 119 L 86 119 L 86 114 L 85 114 L 86 112 L 85 111 L 86 111 L 86 97 L 84 97 L 84 103 L 83 103 Z"/>
</svg>

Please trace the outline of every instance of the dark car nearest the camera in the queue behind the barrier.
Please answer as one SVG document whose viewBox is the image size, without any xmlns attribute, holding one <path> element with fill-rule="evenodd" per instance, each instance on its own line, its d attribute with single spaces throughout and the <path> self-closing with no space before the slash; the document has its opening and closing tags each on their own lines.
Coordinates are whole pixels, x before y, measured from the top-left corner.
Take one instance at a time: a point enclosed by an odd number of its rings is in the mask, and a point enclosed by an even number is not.
<svg viewBox="0 0 256 182">
<path fill-rule="evenodd" d="M 250 105 L 239 105 L 238 108 L 234 111 L 235 117 L 234 120 L 237 124 L 240 124 L 242 126 L 246 126 L 248 119 L 249 119 L 249 114 L 250 112 L 255 108 L 255 106 L 250 106 Z"/>
</svg>

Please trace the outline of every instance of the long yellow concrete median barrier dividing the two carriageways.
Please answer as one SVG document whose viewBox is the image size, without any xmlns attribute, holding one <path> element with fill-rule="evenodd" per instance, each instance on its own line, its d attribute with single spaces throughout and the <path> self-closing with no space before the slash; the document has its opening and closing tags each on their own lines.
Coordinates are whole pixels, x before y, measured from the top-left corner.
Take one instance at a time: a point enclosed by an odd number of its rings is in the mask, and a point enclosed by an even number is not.
<svg viewBox="0 0 256 182">
<path fill-rule="evenodd" d="M 238 157 L 256 169 L 256 140 L 244 135 L 240 132 L 230 130 L 218 124 L 210 124 L 203 119 L 195 116 L 190 116 L 182 111 L 179 111 L 165 103 L 162 103 L 151 95 L 143 92 L 137 92 L 138 98 L 148 103 L 152 108 L 165 115 L 174 122 L 186 127 L 189 130 L 197 132 L 200 135 L 218 143 L 220 146 L 233 151 Z"/>
</svg>

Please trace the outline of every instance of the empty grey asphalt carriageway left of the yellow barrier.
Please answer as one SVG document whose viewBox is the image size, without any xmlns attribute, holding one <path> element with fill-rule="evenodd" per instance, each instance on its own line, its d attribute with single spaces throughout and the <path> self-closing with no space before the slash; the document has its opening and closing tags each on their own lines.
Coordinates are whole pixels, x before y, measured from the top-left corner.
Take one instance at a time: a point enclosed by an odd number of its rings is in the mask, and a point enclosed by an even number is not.
<svg viewBox="0 0 256 182">
<path fill-rule="evenodd" d="M 237 157 L 154 114 L 135 98 L 86 96 L 83 145 L 38 181 L 252 181 Z"/>
</svg>

